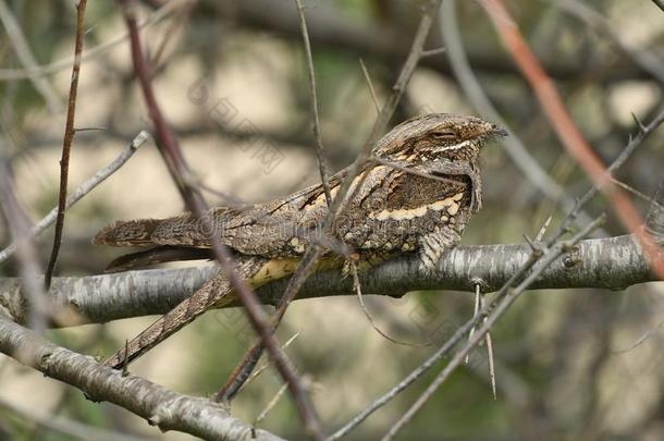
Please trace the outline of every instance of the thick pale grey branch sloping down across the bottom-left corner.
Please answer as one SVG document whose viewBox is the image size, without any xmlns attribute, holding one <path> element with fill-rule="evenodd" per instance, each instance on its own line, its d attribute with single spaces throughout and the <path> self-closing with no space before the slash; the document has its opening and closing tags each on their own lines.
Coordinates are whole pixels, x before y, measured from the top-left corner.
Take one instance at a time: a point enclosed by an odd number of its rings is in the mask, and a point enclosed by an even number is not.
<svg viewBox="0 0 664 441">
<path fill-rule="evenodd" d="M 81 389 L 94 401 L 109 401 L 146 418 L 161 430 L 179 430 L 214 440 L 280 440 L 232 418 L 207 399 L 181 395 L 135 376 L 99 365 L 60 347 L 0 315 L 0 352 Z"/>
</svg>

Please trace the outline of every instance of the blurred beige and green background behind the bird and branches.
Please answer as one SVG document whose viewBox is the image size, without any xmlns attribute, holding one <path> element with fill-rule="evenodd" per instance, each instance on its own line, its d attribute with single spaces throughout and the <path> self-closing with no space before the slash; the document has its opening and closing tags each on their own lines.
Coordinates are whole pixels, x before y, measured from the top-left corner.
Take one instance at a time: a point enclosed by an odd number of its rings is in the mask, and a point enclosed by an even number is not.
<svg viewBox="0 0 664 441">
<path fill-rule="evenodd" d="M 19 196 L 36 222 L 57 203 L 59 160 L 75 34 L 73 1 L 0 0 L 1 136 L 12 159 Z M 589 186 L 564 151 L 531 89 L 501 46 L 483 9 L 457 2 L 463 52 L 481 87 L 527 151 L 570 198 Z M 244 203 L 284 196 L 318 180 L 310 95 L 294 1 L 142 1 L 143 41 L 157 66 L 155 86 L 193 169 L 209 187 Z M 360 68 L 367 65 L 378 101 L 391 90 L 419 22 L 418 1 L 306 0 L 321 106 L 325 156 L 332 171 L 359 151 L 376 118 Z M 631 113 L 648 122 L 662 109 L 664 12 L 650 0 L 506 1 L 532 49 L 555 79 L 570 113 L 611 162 L 636 133 Z M 11 14 L 36 63 L 33 78 L 7 34 Z M 444 20 L 444 17 L 440 17 Z M 448 17 L 450 19 L 450 17 Z M 438 19 L 436 19 L 438 20 Z M 131 66 L 125 26 L 113 1 L 90 1 L 78 88 L 77 128 L 70 188 L 106 166 L 149 127 Z M 427 47 L 444 47 L 441 23 Z M 393 119 L 428 112 L 479 113 L 446 53 L 421 61 Z M 266 154 L 268 152 L 268 154 Z M 468 225 L 465 244 L 522 242 L 551 216 L 564 215 L 527 179 L 499 144 L 482 152 L 484 208 Z M 644 143 L 617 179 L 652 196 L 664 177 L 664 130 Z M 218 194 L 209 203 L 223 205 Z M 634 197 L 645 212 L 649 203 Z M 605 199 L 606 234 L 624 234 Z M 58 275 L 95 274 L 121 254 L 90 244 L 115 219 L 172 216 L 182 200 L 149 142 L 119 172 L 67 213 Z M 52 234 L 52 232 L 50 233 Z M 9 243 L 0 224 L 0 244 Z M 52 237 L 38 240 L 44 266 Z M 16 262 L 0 266 L 16 274 Z M 352 293 L 348 293 L 352 294 Z M 369 293 L 367 293 L 369 294 Z M 379 326 L 406 341 L 441 343 L 472 315 L 472 295 L 414 292 L 401 299 L 368 296 Z M 57 343 L 109 355 L 153 318 L 50 331 Z M 485 351 L 453 375 L 399 434 L 401 439 L 639 439 L 664 438 L 664 286 L 533 291 L 493 330 L 497 400 L 488 382 Z M 648 334 L 647 339 L 642 336 Z M 368 322 L 357 298 L 293 304 L 279 331 L 297 338 L 287 352 L 312 382 L 313 401 L 329 431 L 418 366 L 435 346 L 395 345 Z M 239 309 L 211 311 L 139 359 L 132 371 L 177 392 L 210 395 L 253 342 Z M 347 439 L 374 439 L 405 412 L 438 369 L 371 416 Z M 233 415 L 251 422 L 281 388 L 268 369 L 233 402 Z M 0 439 L 60 440 L 71 434 L 41 427 L 27 414 L 60 416 L 95 428 L 169 440 L 144 420 L 0 355 Z M 48 417 L 50 418 L 50 417 Z M 303 437 L 287 394 L 258 424 Z"/>
</svg>

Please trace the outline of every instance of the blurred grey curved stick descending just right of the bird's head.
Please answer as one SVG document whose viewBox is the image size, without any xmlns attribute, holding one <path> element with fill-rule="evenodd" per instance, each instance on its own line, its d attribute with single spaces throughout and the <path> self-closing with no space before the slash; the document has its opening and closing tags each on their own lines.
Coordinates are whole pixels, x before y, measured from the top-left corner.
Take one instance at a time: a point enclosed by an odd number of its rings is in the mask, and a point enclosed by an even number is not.
<svg viewBox="0 0 664 441">
<path fill-rule="evenodd" d="M 466 98 L 468 98 L 472 107 L 478 113 L 484 117 L 484 119 L 497 123 L 509 133 L 509 136 L 501 139 L 501 144 L 524 176 L 551 199 L 560 199 L 561 205 L 565 210 L 571 210 L 575 207 L 575 200 L 565 193 L 563 187 L 561 187 L 532 155 L 530 155 L 528 148 L 526 148 L 519 137 L 509 128 L 509 124 L 501 117 L 487 94 L 484 94 L 482 85 L 470 68 L 470 63 L 468 62 L 468 58 L 464 50 L 458 29 L 455 0 L 445 0 L 441 7 L 439 16 L 442 35 L 445 45 L 447 46 L 447 60 L 450 61 L 452 72 Z M 590 222 L 591 219 L 588 215 L 581 212 L 579 221 L 580 224 L 585 225 Z"/>
</svg>

